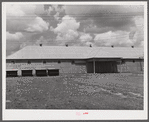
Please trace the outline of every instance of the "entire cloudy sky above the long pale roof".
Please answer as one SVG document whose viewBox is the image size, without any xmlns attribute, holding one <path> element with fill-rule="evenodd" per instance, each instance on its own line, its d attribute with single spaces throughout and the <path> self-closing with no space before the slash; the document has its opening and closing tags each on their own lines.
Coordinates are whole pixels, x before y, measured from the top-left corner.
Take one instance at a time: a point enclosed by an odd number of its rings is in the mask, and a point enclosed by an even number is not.
<svg viewBox="0 0 149 122">
<path fill-rule="evenodd" d="M 143 46 L 143 7 L 7 4 L 7 55 L 40 43 L 50 46 Z"/>
</svg>

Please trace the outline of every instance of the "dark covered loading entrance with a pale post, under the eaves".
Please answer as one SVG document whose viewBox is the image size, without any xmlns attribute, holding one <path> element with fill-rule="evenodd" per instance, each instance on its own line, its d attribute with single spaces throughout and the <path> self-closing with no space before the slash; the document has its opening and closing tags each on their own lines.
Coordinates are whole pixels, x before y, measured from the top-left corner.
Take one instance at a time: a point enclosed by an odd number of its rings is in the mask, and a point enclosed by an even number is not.
<svg viewBox="0 0 149 122">
<path fill-rule="evenodd" d="M 118 62 L 121 62 L 120 58 L 90 59 L 87 61 L 87 73 L 118 73 Z"/>
</svg>

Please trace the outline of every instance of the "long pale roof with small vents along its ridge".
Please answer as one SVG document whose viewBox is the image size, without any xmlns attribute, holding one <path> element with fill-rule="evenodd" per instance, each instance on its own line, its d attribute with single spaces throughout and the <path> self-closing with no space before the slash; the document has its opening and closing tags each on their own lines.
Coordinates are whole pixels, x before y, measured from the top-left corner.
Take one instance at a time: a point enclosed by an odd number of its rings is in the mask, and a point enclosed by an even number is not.
<svg viewBox="0 0 149 122">
<path fill-rule="evenodd" d="M 139 58 L 143 48 L 138 47 L 74 47 L 27 46 L 7 59 L 88 59 L 88 58 Z"/>
</svg>

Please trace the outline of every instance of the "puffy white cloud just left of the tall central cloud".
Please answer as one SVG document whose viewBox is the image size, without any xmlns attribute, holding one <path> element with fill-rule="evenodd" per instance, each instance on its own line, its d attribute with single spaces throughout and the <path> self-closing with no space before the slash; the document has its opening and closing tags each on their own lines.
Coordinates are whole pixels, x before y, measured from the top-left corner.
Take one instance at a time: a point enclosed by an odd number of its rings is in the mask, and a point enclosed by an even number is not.
<svg viewBox="0 0 149 122">
<path fill-rule="evenodd" d="M 32 22 L 28 24 L 26 31 L 29 32 L 43 32 L 48 30 L 49 23 L 45 22 L 42 18 L 36 17 Z"/>
</svg>

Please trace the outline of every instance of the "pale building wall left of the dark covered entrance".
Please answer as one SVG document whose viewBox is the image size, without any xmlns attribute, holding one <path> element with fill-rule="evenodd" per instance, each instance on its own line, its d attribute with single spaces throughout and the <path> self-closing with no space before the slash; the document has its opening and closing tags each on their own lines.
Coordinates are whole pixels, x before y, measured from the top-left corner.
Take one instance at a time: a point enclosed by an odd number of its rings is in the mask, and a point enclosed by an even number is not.
<svg viewBox="0 0 149 122">
<path fill-rule="evenodd" d="M 6 63 L 6 69 L 18 69 L 18 75 L 21 76 L 21 70 L 28 69 L 33 70 L 33 75 L 35 75 L 35 69 L 59 69 L 59 73 L 86 73 L 86 64 L 72 64 L 71 62 L 31 62 L 28 64 L 27 62 L 15 62 Z"/>
</svg>

